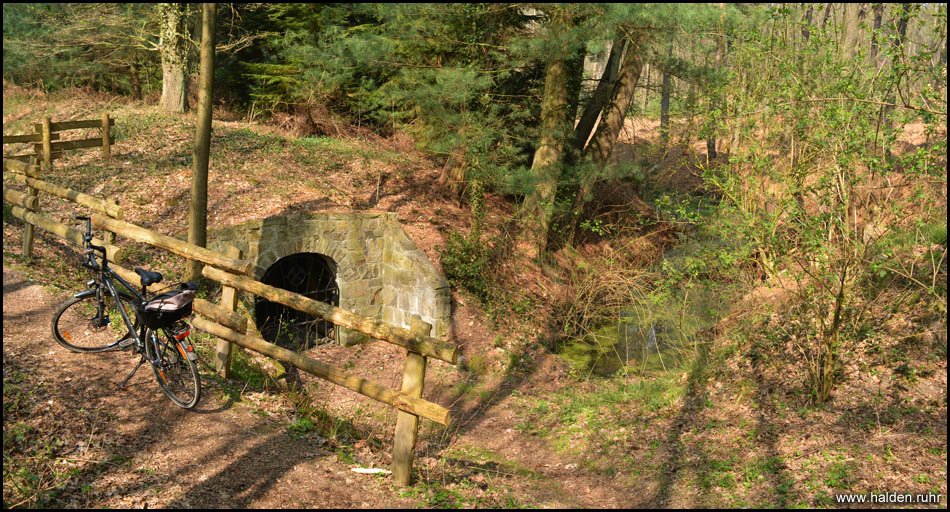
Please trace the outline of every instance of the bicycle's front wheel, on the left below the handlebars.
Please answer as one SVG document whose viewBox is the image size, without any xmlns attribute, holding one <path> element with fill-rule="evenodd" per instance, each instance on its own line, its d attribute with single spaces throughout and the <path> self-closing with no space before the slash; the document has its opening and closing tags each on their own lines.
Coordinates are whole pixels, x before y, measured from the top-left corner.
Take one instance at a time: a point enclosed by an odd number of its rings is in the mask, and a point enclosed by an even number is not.
<svg viewBox="0 0 950 512">
<path fill-rule="evenodd" d="M 108 295 L 105 291 L 102 293 Z M 132 325 L 138 329 L 140 320 L 136 314 L 136 300 L 121 292 L 119 299 Z M 102 352 L 116 348 L 121 342 L 134 337 L 115 307 L 115 300 L 106 297 L 102 303 L 105 321 L 99 314 L 95 290 L 86 290 L 63 302 L 50 322 L 53 339 L 73 352 Z"/>
</svg>

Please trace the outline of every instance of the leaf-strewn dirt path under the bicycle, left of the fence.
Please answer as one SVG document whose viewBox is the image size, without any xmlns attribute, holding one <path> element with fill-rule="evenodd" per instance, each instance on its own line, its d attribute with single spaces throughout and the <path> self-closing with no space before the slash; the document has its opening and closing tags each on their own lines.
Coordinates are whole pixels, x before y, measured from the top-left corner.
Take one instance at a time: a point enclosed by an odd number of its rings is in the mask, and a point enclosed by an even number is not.
<svg viewBox="0 0 950 512">
<path fill-rule="evenodd" d="M 75 354 L 51 341 L 49 319 L 62 299 L 3 270 L 4 370 L 35 373 L 46 401 L 34 406 L 32 420 L 63 440 L 69 458 L 85 461 L 69 487 L 91 487 L 77 492 L 72 504 L 411 505 L 306 438 L 292 438 L 274 421 L 215 400 L 207 382 L 196 412 L 171 405 L 145 367 L 119 390 L 135 363 L 130 353 Z"/>
</svg>

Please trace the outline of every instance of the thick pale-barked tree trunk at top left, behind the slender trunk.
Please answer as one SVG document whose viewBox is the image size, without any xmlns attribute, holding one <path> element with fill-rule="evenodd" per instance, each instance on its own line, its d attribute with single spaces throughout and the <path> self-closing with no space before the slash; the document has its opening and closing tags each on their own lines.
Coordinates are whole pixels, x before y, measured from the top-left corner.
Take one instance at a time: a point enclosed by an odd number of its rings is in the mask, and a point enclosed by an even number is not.
<svg viewBox="0 0 950 512">
<path fill-rule="evenodd" d="M 166 112 L 188 110 L 187 7 L 185 4 L 159 4 L 163 23 L 159 39 L 162 54 L 162 99 Z"/>
</svg>

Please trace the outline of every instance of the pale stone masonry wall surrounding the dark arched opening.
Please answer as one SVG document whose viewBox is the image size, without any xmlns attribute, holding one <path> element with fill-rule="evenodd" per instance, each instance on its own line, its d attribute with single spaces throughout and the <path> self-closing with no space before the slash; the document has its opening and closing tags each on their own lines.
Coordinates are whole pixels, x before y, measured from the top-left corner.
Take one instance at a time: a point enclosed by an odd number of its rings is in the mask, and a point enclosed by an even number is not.
<svg viewBox="0 0 950 512">
<path fill-rule="evenodd" d="M 406 235 L 392 213 L 298 213 L 268 217 L 212 231 L 208 248 L 226 244 L 254 262 L 260 280 L 277 260 L 302 252 L 323 254 L 336 264 L 340 308 L 409 327 L 418 315 L 445 339 L 451 323 L 449 284 Z M 245 301 L 253 306 L 253 300 Z M 337 327 L 343 345 L 368 341 Z"/>
</svg>

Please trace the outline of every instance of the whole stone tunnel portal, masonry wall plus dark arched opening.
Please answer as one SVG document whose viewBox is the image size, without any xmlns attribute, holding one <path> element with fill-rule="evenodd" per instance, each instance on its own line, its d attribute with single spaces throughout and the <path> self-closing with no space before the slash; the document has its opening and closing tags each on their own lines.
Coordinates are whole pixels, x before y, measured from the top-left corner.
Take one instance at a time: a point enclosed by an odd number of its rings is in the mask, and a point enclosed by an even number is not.
<svg viewBox="0 0 950 512">
<path fill-rule="evenodd" d="M 448 281 L 406 235 L 393 213 L 293 213 L 214 230 L 208 248 L 234 246 L 252 261 L 254 279 L 408 328 L 419 317 L 446 339 L 452 323 Z M 293 326 L 298 344 L 332 338 L 349 346 L 365 334 L 310 317 L 251 294 L 241 294 L 265 338 Z M 315 322 L 316 320 L 316 322 Z M 269 331 L 269 332 L 268 332 Z M 289 337 L 282 341 L 292 348 Z"/>
</svg>

